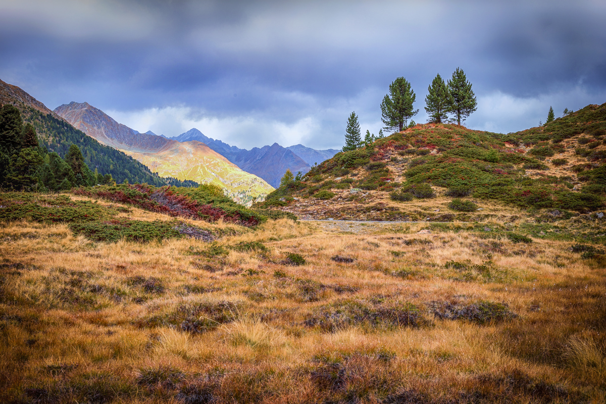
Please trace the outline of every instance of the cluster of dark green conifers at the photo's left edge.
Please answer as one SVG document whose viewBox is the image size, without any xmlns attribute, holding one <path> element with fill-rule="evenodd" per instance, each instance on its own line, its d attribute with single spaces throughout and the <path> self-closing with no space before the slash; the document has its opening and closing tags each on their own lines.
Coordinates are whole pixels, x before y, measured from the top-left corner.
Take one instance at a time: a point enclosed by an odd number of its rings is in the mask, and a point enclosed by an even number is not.
<svg viewBox="0 0 606 404">
<path fill-rule="evenodd" d="M 31 124 L 23 124 L 13 105 L 0 108 L 0 187 L 25 191 L 63 191 L 73 187 L 113 184 L 110 174 L 93 173 L 78 146 L 65 159 L 39 146 Z"/>
</svg>

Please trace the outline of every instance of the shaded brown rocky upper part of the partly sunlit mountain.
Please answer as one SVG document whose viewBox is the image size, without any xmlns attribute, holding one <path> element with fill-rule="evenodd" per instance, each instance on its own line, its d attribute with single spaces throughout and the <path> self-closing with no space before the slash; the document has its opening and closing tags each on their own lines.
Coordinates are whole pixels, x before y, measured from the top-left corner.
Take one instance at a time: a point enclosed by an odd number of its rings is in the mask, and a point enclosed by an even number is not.
<svg viewBox="0 0 606 404">
<path fill-rule="evenodd" d="M 119 124 L 112 117 L 87 102 L 70 102 L 55 108 L 55 113 L 73 126 L 94 137 L 102 144 L 138 152 L 158 152 L 175 141 L 155 134 L 139 133 L 126 125 Z"/>
</svg>

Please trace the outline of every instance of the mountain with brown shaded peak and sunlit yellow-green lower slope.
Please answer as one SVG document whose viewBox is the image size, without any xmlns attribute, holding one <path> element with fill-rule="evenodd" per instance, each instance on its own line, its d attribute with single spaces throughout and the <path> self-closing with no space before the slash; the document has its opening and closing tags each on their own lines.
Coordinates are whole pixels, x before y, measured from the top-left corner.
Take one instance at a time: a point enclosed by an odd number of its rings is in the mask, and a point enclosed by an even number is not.
<svg viewBox="0 0 606 404">
<path fill-rule="evenodd" d="M 250 204 L 253 198 L 262 199 L 273 191 L 264 180 L 241 170 L 200 142 L 178 142 L 153 133 L 139 133 L 87 103 L 70 102 L 55 108 L 55 112 L 89 136 L 118 148 L 161 177 L 216 184 L 242 204 Z"/>
</svg>

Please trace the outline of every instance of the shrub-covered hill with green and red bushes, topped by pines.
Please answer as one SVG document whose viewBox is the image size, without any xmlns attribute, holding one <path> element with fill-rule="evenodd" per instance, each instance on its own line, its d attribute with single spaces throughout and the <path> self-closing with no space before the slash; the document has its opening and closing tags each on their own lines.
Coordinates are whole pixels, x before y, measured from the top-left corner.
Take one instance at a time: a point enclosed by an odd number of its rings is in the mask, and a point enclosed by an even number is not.
<svg viewBox="0 0 606 404">
<path fill-rule="evenodd" d="M 515 206 L 568 219 L 604 208 L 606 104 L 507 135 L 416 125 L 312 168 L 266 206 L 301 218 L 480 220 Z"/>
</svg>

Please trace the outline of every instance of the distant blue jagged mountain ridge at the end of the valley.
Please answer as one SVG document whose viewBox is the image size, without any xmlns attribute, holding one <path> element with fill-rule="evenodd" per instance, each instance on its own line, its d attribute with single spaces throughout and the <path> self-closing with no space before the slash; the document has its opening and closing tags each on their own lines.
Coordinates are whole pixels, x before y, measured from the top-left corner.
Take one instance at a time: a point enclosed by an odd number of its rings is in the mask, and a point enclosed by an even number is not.
<svg viewBox="0 0 606 404">
<path fill-rule="evenodd" d="M 246 150 L 205 136 L 196 128 L 192 128 L 170 139 L 175 139 L 179 142 L 202 142 L 232 163 L 238 165 L 242 170 L 256 174 L 273 187 L 279 187 L 280 179 L 284 176 L 287 169 L 295 174 L 298 171 L 305 174 L 310 170 L 311 165 L 330 159 L 330 157 L 339 152 L 334 149 L 315 150 L 303 145 L 282 147 L 277 143 L 271 146 L 267 145 L 261 148 L 255 147 L 251 150 Z"/>
</svg>

